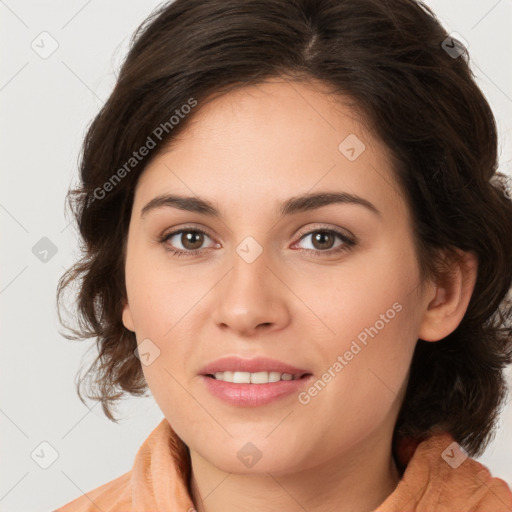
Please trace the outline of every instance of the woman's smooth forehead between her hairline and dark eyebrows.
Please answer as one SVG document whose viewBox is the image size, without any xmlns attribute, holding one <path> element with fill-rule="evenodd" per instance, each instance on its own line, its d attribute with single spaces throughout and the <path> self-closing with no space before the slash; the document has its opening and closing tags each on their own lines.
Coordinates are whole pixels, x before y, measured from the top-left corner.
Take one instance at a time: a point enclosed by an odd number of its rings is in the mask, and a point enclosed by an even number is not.
<svg viewBox="0 0 512 512">
<path fill-rule="evenodd" d="M 261 208 L 316 189 L 374 201 L 384 191 L 396 202 L 387 149 L 350 103 L 316 83 L 275 80 L 200 104 L 140 177 L 138 207 L 163 191 L 226 208 Z"/>
</svg>

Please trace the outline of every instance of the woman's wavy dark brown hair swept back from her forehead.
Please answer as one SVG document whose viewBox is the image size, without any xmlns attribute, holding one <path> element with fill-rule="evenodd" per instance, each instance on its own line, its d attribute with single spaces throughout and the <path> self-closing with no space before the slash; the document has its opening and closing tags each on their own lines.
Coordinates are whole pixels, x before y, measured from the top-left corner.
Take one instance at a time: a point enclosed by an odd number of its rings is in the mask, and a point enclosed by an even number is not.
<svg viewBox="0 0 512 512">
<path fill-rule="evenodd" d="M 395 436 L 446 430 L 470 455 L 482 453 L 512 362 L 512 203 L 497 172 L 495 120 L 469 56 L 413 0 L 176 0 L 139 27 L 88 128 L 81 183 L 68 195 L 84 253 L 62 276 L 57 300 L 62 307 L 64 290 L 78 287 L 78 326 L 66 336 L 94 337 L 98 348 L 77 383 L 80 398 L 89 385 L 88 397 L 116 421 L 111 407 L 147 390 L 135 335 L 121 320 L 123 247 L 145 166 L 193 116 L 185 105 L 285 76 L 351 98 L 386 144 L 411 211 L 422 278 L 440 274 L 440 250 L 478 256 L 460 325 L 437 343 L 417 342 Z M 154 148 L 139 159 L 148 137 Z"/>
</svg>

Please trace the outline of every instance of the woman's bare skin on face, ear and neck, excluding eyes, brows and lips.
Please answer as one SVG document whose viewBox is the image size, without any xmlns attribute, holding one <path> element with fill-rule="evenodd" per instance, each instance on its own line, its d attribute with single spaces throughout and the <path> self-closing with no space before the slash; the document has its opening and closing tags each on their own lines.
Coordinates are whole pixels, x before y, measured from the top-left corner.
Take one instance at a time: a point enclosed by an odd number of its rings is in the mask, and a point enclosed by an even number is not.
<svg viewBox="0 0 512 512">
<path fill-rule="evenodd" d="M 229 92 L 199 105 L 138 182 L 123 323 L 138 343 L 149 338 L 160 350 L 143 371 L 190 448 L 200 512 L 376 508 L 400 479 L 391 438 L 415 343 L 448 335 L 467 308 L 474 256 L 461 253 L 449 283 L 419 287 L 411 217 L 387 149 L 340 100 L 315 82 Z M 354 161 L 338 150 L 349 134 L 366 146 Z M 380 215 L 337 203 L 278 217 L 281 202 L 320 191 L 357 194 Z M 163 193 L 205 198 L 222 218 L 168 206 L 141 216 Z M 208 234 L 196 245 L 181 234 L 159 241 L 185 227 Z M 357 241 L 327 254 L 344 242 L 333 235 L 315 243 L 315 229 Z M 252 263 L 236 252 L 248 236 L 263 250 Z M 172 245 L 202 253 L 178 258 L 166 250 Z M 306 405 L 296 395 L 229 405 L 198 376 L 207 363 L 239 355 L 279 359 L 320 378 L 395 303 L 401 311 Z M 262 454 L 252 468 L 237 457 L 248 442 Z"/>
</svg>

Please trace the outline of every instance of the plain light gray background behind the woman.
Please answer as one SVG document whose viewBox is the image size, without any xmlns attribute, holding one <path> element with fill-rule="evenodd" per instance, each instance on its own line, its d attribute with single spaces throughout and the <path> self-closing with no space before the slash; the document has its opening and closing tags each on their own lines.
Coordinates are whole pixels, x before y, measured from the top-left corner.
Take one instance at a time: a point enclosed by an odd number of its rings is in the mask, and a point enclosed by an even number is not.
<svg viewBox="0 0 512 512">
<path fill-rule="evenodd" d="M 77 256 L 64 197 L 76 182 L 84 131 L 114 85 L 129 37 L 158 4 L 0 0 L 2 512 L 53 510 L 128 471 L 163 418 L 150 397 L 127 400 L 118 425 L 99 405 L 86 408 L 74 378 L 81 359 L 91 360 L 86 350 L 93 344 L 62 338 L 55 311 L 58 278 Z M 497 115 L 501 169 L 510 174 L 512 0 L 427 4 L 468 43 L 475 75 Z M 43 52 L 56 44 L 40 36 L 44 31 L 58 43 L 46 59 L 31 47 Z M 32 252 L 42 237 L 57 248 L 46 262 Z M 51 450 L 39 446 L 43 441 L 59 454 L 48 469 L 31 457 L 36 449 L 41 463 L 50 461 Z M 512 404 L 479 460 L 512 485 Z"/>
</svg>

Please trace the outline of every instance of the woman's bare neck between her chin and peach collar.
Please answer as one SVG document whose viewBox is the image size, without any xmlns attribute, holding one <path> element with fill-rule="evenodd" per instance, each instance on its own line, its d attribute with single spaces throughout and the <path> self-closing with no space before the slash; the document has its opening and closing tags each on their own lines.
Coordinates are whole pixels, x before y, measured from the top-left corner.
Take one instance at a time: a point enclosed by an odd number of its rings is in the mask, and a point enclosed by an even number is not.
<svg viewBox="0 0 512 512">
<path fill-rule="evenodd" d="M 390 439 L 363 441 L 319 466 L 279 475 L 225 472 L 191 451 L 192 500 L 197 512 L 371 512 L 400 474 Z"/>
</svg>

